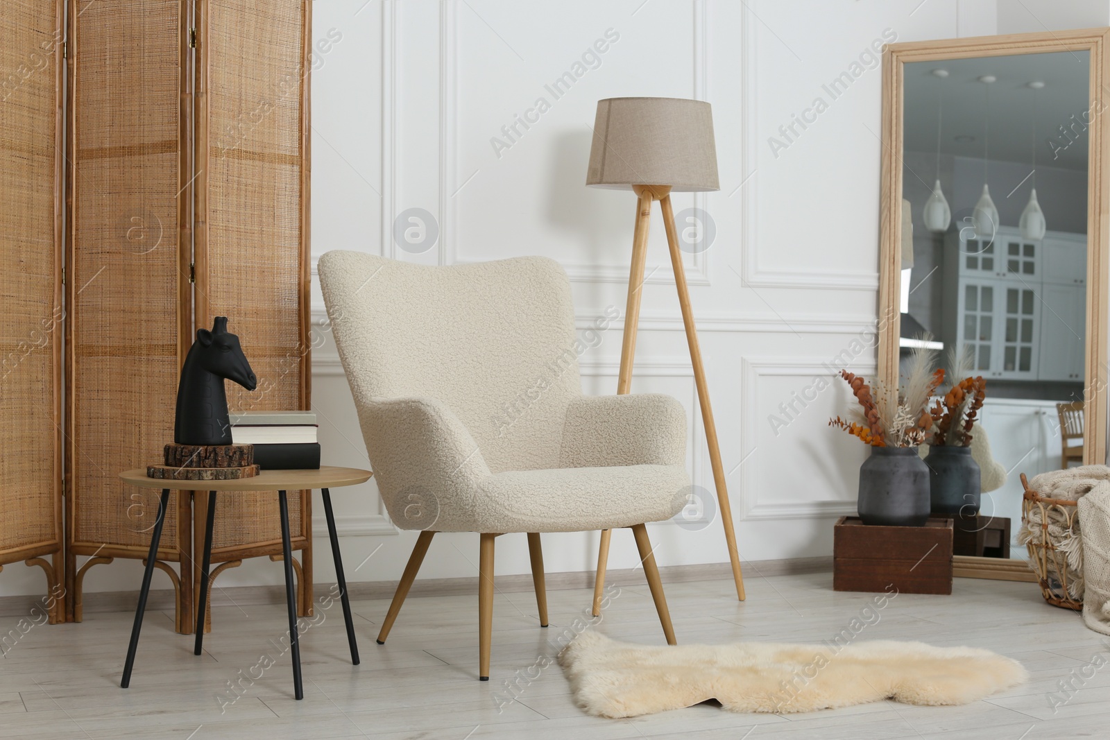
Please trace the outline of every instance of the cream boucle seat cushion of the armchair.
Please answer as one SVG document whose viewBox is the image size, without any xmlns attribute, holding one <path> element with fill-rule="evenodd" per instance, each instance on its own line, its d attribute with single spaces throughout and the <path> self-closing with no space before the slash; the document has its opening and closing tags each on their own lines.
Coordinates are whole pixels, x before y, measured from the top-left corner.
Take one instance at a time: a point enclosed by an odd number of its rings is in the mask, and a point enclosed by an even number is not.
<svg viewBox="0 0 1110 740">
<path fill-rule="evenodd" d="M 686 506 L 680 465 L 512 470 L 481 479 L 467 510 L 442 513 L 436 531 L 582 531 L 662 521 Z"/>
</svg>

